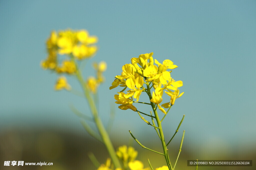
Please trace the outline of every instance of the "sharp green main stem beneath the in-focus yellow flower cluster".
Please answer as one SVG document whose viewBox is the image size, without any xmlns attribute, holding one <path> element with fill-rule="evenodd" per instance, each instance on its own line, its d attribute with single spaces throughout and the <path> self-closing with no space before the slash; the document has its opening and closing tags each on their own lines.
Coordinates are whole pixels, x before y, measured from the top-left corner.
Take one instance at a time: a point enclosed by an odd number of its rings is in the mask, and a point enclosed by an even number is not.
<svg viewBox="0 0 256 170">
<path fill-rule="evenodd" d="M 151 95 L 150 87 L 149 87 L 148 83 L 147 83 L 147 91 L 149 91 L 148 96 L 151 100 L 152 95 Z M 168 159 L 167 147 L 166 147 L 165 140 L 164 140 L 164 133 L 163 133 L 163 128 L 162 128 L 162 125 L 161 125 L 161 121 L 158 117 L 158 114 L 157 114 L 157 111 L 156 111 L 156 108 L 155 108 L 155 104 L 153 102 L 150 102 L 150 104 L 151 104 L 151 107 L 152 107 L 152 109 L 154 111 L 154 114 L 155 114 L 155 119 L 156 119 L 156 122 L 157 122 L 157 126 L 159 127 L 159 134 L 160 134 L 160 137 L 161 137 L 161 142 L 162 142 L 162 146 L 163 146 L 165 161 L 168 165 L 169 170 L 172 170 L 172 165 L 171 165 L 171 163 Z"/>
</svg>

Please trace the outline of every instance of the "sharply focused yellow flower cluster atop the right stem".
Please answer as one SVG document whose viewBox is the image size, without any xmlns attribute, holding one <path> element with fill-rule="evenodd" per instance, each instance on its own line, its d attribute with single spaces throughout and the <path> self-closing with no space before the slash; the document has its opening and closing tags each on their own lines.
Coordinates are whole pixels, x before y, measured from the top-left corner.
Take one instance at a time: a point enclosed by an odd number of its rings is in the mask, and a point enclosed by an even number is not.
<svg viewBox="0 0 256 170">
<path fill-rule="evenodd" d="M 151 86 L 154 91 L 151 95 L 151 102 L 157 104 L 159 110 L 166 114 L 164 108 L 172 106 L 177 98 L 183 95 L 179 93 L 178 87 L 183 86 L 182 81 L 175 81 L 171 77 L 172 69 L 178 66 L 174 65 L 171 60 L 164 60 L 162 63 L 153 59 L 153 53 L 142 54 L 138 58 L 132 58 L 130 64 L 125 64 L 122 67 L 121 75 L 115 76 L 115 80 L 109 89 L 121 86 L 124 87 L 114 98 L 117 100 L 117 104 L 120 109 L 126 110 L 131 109 L 137 111 L 136 107 L 133 106 L 133 98 L 139 101 L 140 95 L 143 91 L 148 93 L 146 86 Z M 154 65 L 156 64 L 156 65 Z M 127 93 L 123 91 L 129 88 Z M 163 92 L 170 97 L 170 101 L 162 105 Z"/>
</svg>

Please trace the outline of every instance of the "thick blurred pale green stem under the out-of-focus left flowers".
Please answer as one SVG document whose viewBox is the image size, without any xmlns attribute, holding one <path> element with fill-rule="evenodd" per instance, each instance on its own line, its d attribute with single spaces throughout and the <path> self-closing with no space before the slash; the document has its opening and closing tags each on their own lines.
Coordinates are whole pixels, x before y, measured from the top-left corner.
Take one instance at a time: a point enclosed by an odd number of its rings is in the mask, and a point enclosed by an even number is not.
<svg viewBox="0 0 256 170">
<path fill-rule="evenodd" d="M 74 59 L 73 59 L 74 61 Z M 76 63 L 76 61 L 74 61 Z M 77 63 L 76 63 L 76 66 L 77 66 Z M 78 67 L 77 67 L 78 68 Z M 77 79 L 78 81 L 80 82 L 82 88 L 83 88 L 83 91 L 84 91 L 84 95 L 87 99 L 87 102 L 90 106 L 90 109 L 91 109 L 91 112 L 92 112 L 92 115 L 93 115 L 93 118 L 94 118 L 94 121 L 95 121 L 95 124 L 97 126 L 97 129 L 100 133 L 100 136 L 102 138 L 102 141 L 103 143 L 105 144 L 106 146 L 106 149 L 108 150 L 109 154 L 110 154 L 110 157 L 113 161 L 113 164 L 116 168 L 120 168 L 121 167 L 121 164 L 115 154 L 115 150 L 114 150 L 114 147 L 112 145 L 112 142 L 109 138 L 109 135 L 105 129 L 105 127 L 103 126 L 103 123 L 98 115 L 98 111 L 97 111 L 97 108 L 96 108 L 96 105 L 95 105 L 95 102 L 93 100 L 93 98 L 91 97 L 90 93 L 89 93 L 89 90 L 83 80 L 83 77 L 82 77 L 82 74 L 80 72 L 80 70 L 77 70 L 76 72 L 76 76 L 77 76 Z"/>
</svg>

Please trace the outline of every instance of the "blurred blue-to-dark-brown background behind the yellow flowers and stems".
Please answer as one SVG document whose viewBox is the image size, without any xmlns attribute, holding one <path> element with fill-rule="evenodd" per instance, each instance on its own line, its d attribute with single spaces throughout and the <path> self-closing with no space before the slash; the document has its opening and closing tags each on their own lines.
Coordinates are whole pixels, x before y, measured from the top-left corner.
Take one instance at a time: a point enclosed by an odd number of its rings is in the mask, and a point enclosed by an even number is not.
<svg viewBox="0 0 256 170">
<path fill-rule="evenodd" d="M 159 62 L 170 59 L 182 80 L 184 95 L 164 120 L 166 138 L 176 160 L 186 130 L 178 169 L 187 160 L 256 160 L 255 64 L 256 2 L 251 1 L 0 1 L 0 169 L 96 169 L 104 146 L 90 137 L 69 108 L 89 113 L 86 101 L 67 91 L 54 91 L 58 75 L 40 68 L 47 56 L 45 42 L 52 30 L 86 29 L 99 38 L 91 63 L 106 61 L 100 87 L 100 116 L 107 125 L 111 106 L 115 120 L 110 133 L 115 148 L 132 145 L 138 159 L 154 168 L 164 159 L 133 142 L 161 150 L 154 129 L 131 110 L 120 110 L 109 90 L 122 66 L 132 57 L 154 52 Z M 72 77 L 68 81 L 81 90 Z M 141 105 L 140 110 L 146 109 Z M 144 108 L 143 108 L 144 107 Z M 93 124 L 91 124 L 93 127 Z M 52 162 L 52 166 L 3 166 L 4 161 Z M 199 169 L 255 169 L 199 167 Z"/>
</svg>

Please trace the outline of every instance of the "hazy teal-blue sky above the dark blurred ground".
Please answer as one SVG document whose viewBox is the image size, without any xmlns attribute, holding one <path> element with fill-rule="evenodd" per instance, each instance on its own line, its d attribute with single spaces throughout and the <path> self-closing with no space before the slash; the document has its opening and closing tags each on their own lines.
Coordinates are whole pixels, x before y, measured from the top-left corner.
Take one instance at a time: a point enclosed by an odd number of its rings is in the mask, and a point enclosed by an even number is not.
<svg viewBox="0 0 256 170">
<path fill-rule="evenodd" d="M 71 28 L 97 35 L 99 51 L 92 61 L 108 63 L 100 110 L 114 102 L 118 90 L 108 87 L 121 67 L 154 52 L 158 61 L 179 66 L 172 77 L 184 83 L 184 96 L 165 119 L 170 135 L 185 114 L 180 130 L 193 143 L 255 143 L 255 7 L 255 1 L 1 1 L 1 131 L 34 126 L 82 131 L 69 104 L 86 112 L 85 101 L 55 92 L 57 75 L 40 68 L 50 31 Z M 89 62 L 85 74 L 93 74 L 90 67 Z M 74 79 L 69 82 L 79 88 Z M 113 136 L 154 133 L 135 112 L 115 108 Z M 107 120 L 109 112 L 101 116 Z"/>
</svg>

